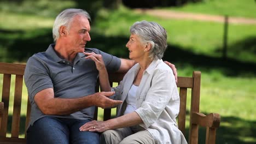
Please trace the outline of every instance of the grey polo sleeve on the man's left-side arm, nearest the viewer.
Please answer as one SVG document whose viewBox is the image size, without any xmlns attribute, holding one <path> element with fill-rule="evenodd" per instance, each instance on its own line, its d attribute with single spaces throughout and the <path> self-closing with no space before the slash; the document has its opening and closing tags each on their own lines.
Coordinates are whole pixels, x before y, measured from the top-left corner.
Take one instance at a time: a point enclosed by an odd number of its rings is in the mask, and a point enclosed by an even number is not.
<svg viewBox="0 0 256 144">
<path fill-rule="evenodd" d="M 28 91 L 28 97 L 31 101 L 34 99 L 34 95 L 46 88 L 53 88 L 53 82 L 49 76 L 49 68 L 46 64 L 37 58 L 32 56 L 28 59 L 25 68 L 25 84 Z"/>
</svg>

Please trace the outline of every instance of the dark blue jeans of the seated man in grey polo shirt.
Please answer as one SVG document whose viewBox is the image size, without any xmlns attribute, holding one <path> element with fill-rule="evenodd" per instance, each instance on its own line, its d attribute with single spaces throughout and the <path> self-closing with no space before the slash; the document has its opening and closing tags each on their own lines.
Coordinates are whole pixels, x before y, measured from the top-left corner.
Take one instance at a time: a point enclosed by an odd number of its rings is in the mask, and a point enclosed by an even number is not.
<svg viewBox="0 0 256 144">
<path fill-rule="evenodd" d="M 89 120 L 46 116 L 38 119 L 27 130 L 27 143 L 100 143 L 100 134 L 80 131 Z"/>
</svg>

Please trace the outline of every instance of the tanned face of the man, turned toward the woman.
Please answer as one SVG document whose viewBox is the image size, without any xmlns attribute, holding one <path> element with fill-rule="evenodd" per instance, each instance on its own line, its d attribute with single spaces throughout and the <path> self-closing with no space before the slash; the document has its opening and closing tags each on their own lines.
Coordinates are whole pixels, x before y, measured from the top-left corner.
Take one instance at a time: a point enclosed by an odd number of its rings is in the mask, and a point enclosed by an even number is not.
<svg viewBox="0 0 256 144">
<path fill-rule="evenodd" d="M 71 52 L 84 52 L 87 41 L 91 40 L 89 34 L 90 29 L 88 18 L 81 15 L 77 15 L 73 18 L 66 38 L 68 49 L 70 49 Z"/>
</svg>

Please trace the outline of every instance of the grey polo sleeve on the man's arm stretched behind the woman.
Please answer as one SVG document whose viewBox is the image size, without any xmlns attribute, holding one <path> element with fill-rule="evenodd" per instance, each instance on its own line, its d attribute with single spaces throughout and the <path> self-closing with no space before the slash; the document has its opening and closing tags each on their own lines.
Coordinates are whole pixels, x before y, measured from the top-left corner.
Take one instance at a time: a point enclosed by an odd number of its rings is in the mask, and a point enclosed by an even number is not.
<svg viewBox="0 0 256 144">
<path fill-rule="evenodd" d="M 103 58 L 104 64 L 106 65 L 108 72 L 115 72 L 119 70 L 121 66 L 121 59 L 110 55 L 106 52 L 100 51 L 98 49 L 92 49 L 93 51 L 96 51 L 96 53 L 100 54 Z"/>
</svg>

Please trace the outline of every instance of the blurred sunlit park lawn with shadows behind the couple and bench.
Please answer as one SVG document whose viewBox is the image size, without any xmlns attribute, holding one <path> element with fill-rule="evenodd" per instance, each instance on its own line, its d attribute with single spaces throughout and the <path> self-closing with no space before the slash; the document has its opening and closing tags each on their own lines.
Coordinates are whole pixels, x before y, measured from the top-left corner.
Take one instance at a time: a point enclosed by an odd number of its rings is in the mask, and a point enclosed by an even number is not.
<svg viewBox="0 0 256 144">
<path fill-rule="evenodd" d="M 54 19 L 66 8 L 85 9 L 92 16 L 86 47 L 123 58 L 129 55 L 125 44 L 134 22 L 164 26 L 168 48 L 163 59 L 176 65 L 179 76 L 201 71 L 200 112 L 221 115 L 216 143 L 256 143 L 256 1 L 1 0 L 0 62 L 26 63 L 33 53 L 45 51 L 53 43 Z M 25 88 L 22 99 L 27 99 Z M 201 129 L 199 143 L 204 140 Z"/>
</svg>

